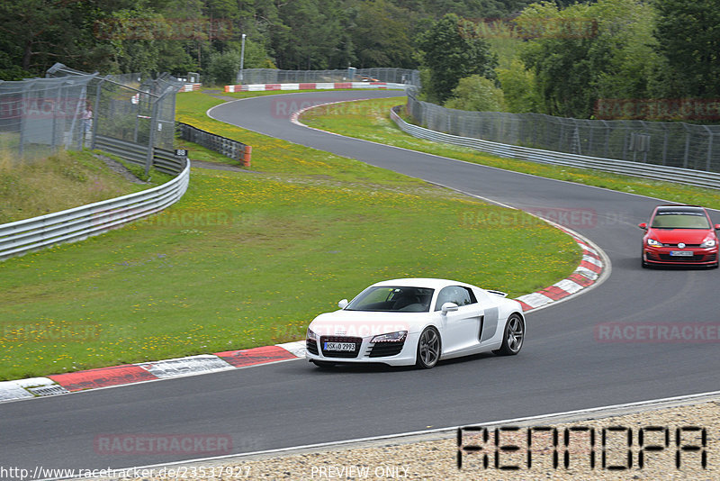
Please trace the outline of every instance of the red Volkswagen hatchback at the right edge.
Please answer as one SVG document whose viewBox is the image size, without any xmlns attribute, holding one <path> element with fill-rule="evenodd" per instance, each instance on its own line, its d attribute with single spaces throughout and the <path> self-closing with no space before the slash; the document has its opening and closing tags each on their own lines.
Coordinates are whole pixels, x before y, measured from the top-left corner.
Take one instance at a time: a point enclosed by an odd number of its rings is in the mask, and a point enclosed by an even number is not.
<svg viewBox="0 0 720 481">
<path fill-rule="evenodd" d="M 658 205 L 650 222 L 639 224 L 643 237 L 643 267 L 706 266 L 717 268 L 717 236 L 699 205 Z"/>
</svg>

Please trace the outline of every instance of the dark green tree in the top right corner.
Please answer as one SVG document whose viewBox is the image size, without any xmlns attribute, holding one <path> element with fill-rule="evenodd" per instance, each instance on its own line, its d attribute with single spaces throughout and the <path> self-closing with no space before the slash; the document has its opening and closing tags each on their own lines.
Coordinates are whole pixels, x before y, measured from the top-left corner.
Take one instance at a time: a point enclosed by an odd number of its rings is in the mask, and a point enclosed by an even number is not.
<svg viewBox="0 0 720 481">
<path fill-rule="evenodd" d="M 656 0 L 657 51 L 672 95 L 720 95 L 720 7 L 717 0 Z M 671 92 L 665 92 L 670 94 Z"/>
</svg>

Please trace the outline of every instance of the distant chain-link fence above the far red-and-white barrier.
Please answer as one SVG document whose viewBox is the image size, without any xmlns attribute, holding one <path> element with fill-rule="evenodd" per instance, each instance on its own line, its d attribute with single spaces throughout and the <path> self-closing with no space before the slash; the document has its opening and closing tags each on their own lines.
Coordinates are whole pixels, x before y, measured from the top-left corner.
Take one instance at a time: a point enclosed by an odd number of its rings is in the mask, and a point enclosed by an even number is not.
<svg viewBox="0 0 720 481">
<path fill-rule="evenodd" d="M 343 68 L 340 70 L 277 70 L 245 68 L 238 84 L 296 84 L 310 82 L 388 82 L 420 85 L 418 70 L 408 68 Z"/>
</svg>

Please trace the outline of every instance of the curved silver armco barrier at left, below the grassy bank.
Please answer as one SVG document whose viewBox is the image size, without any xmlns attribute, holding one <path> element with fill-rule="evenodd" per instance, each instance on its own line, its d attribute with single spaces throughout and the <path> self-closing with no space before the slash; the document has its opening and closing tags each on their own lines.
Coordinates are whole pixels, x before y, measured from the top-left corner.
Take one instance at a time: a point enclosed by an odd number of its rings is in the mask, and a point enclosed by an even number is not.
<svg viewBox="0 0 720 481">
<path fill-rule="evenodd" d="M 184 195 L 190 180 L 190 161 L 183 159 L 182 162 L 180 174 L 162 186 L 0 225 L 0 259 L 62 242 L 81 241 L 175 204 Z M 171 163 L 168 161 L 167 169 L 174 168 Z"/>
</svg>

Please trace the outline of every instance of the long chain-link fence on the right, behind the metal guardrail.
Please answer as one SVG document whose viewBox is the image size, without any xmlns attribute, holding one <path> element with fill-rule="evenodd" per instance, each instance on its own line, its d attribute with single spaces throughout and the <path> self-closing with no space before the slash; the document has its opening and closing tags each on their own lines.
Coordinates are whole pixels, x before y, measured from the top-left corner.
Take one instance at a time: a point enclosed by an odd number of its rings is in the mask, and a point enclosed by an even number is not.
<svg viewBox="0 0 720 481">
<path fill-rule="evenodd" d="M 416 94 L 408 92 L 408 113 L 415 123 L 434 131 L 589 157 L 720 172 L 720 125 L 467 112 L 419 101 Z"/>
</svg>

